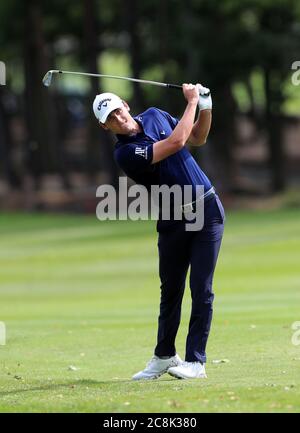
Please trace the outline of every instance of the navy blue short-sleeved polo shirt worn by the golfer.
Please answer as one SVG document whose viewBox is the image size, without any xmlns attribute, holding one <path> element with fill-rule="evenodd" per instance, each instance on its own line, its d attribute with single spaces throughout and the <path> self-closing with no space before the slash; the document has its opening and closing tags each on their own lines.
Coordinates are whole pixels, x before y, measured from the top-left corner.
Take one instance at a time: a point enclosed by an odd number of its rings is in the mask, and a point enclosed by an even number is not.
<svg viewBox="0 0 300 433">
<path fill-rule="evenodd" d="M 125 174 L 136 183 L 150 189 L 151 185 L 203 185 L 204 192 L 211 188 L 211 182 L 201 170 L 186 147 L 173 155 L 152 163 L 153 144 L 167 138 L 176 127 L 178 119 L 158 108 L 151 107 L 134 120 L 142 127 L 142 132 L 128 136 L 117 135 L 115 160 Z"/>
</svg>

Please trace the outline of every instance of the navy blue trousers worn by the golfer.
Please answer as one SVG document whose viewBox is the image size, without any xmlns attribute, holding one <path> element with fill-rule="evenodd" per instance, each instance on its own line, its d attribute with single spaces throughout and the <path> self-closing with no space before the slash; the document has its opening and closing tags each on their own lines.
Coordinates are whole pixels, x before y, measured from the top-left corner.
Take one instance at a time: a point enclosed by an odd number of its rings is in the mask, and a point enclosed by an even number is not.
<svg viewBox="0 0 300 433">
<path fill-rule="evenodd" d="M 225 214 L 218 196 L 205 203 L 204 226 L 186 231 L 185 221 L 159 233 L 160 314 L 155 355 L 174 356 L 181 304 L 190 266 L 192 308 L 185 360 L 206 362 L 214 293 L 212 282 L 224 230 Z"/>
</svg>

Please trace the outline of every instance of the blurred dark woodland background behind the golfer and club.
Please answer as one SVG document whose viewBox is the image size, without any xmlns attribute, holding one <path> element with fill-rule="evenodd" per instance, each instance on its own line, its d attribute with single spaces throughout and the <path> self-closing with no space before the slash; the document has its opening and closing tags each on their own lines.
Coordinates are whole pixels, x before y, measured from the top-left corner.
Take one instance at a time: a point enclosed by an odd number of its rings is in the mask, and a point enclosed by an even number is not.
<svg viewBox="0 0 300 433">
<path fill-rule="evenodd" d="M 201 82 L 213 95 L 206 146 L 192 149 L 224 196 L 300 184 L 297 0 L 10 0 L 0 3 L 1 208 L 94 211 L 101 183 L 117 184 L 114 138 L 94 119 L 101 91 L 133 114 L 180 117 L 176 90 L 56 76 L 49 69 Z"/>
</svg>

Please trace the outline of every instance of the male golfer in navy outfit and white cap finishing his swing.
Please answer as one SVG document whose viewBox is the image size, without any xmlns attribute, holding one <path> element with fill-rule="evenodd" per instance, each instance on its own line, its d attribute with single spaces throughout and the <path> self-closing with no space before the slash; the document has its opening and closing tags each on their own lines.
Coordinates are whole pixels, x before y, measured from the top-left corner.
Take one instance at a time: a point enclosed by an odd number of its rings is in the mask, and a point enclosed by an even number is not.
<svg viewBox="0 0 300 433">
<path fill-rule="evenodd" d="M 180 120 L 158 108 L 132 117 L 125 101 L 112 93 L 97 95 L 94 114 L 99 125 L 117 136 L 115 159 L 137 184 L 204 187 L 204 225 L 187 231 L 182 220 L 158 220 L 159 276 L 161 281 L 157 345 L 146 368 L 132 379 L 157 379 L 164 373 L 182 378 L 206 377 L 206 344 L 214 294 L 212 282 L 224 229 L 224 209 L 210 180 L 186 144 L 201 146 L 211 126 L 212 100 L 200 84 L 183 84 L 186 107 Z M 196 118 L 197 106 L 199 114 Z M 195 120 L 196 118 L 196 120 Z M 199 200 L 188 203 L 192 208 Z M 182 206 L 184 213 L 185 206 Z M 185 281 L 190 267 L 192 308 L 186 338 L 185 361 L 176 353 L 175 338 L 181 315 Z"/>
</svg>

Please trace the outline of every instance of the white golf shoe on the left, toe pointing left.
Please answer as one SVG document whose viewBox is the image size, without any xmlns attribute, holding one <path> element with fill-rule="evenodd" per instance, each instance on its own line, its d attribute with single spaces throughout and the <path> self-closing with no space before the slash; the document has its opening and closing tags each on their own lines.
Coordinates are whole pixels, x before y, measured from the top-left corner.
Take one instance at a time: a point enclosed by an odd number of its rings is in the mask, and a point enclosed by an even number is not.
<svg viewBox="0 0 300 433">
<path fill-rule="evenodd" d="M 166 373 L 170 367 L 176 367 L 181 363 L 182 360 L 177 354 L 167 359 L 159 358 L 158 356 L 154 355 L 144 370 L 139 371 L 132 376 L 132 380 L 157 379 L 162 374 Z"/>
</svg>

